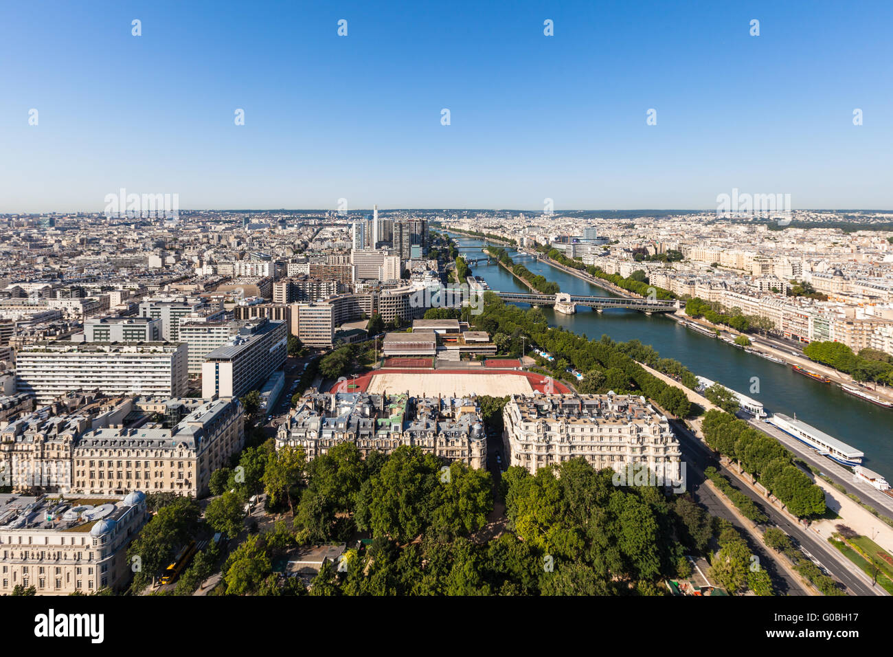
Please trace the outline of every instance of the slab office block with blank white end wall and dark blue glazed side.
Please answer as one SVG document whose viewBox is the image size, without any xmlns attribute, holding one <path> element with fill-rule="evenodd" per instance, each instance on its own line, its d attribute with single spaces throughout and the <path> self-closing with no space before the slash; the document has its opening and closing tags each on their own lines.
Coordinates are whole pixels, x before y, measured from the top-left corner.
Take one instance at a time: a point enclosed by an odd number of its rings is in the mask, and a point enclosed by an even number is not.
<svg viewBox="0 0 893 657">
<path fill-rule="evenodd" d="M 202 397 L 241 397 L 260 388 L 288 356 L 285 322 L 266 317 L 239 328 L 230 344 L 208 353 L 202 365 Z"/>
</svg>

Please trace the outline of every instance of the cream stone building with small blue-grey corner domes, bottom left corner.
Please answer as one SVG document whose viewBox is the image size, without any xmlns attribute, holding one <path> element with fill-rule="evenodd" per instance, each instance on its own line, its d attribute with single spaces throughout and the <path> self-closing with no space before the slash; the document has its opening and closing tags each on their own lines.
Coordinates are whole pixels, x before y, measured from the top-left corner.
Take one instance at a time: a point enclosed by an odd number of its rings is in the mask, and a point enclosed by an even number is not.
<svg viewBox="0 0 893 657">
<path fill-rule="evenodd" d="M 0 493 L 0 595 L 115 592 L 129 584 L 127 548 L 146 524 L 146 494 L 79 499 Z"/>
</svg>

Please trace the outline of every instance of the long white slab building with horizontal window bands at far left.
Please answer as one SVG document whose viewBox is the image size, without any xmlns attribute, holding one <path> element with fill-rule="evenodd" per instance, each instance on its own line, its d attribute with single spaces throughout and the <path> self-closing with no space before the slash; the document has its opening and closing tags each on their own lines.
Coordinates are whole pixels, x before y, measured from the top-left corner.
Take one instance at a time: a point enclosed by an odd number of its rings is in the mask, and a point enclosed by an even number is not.
<svg viewBox="0 0 893 657">
<path fill-rule="evenodd" d="M 40 403 L 78 390 L 179 397 L 187 392 L 187 350 L 171 342 L 38 342 L 16 358 L 17 385 Z"/>
</svg>

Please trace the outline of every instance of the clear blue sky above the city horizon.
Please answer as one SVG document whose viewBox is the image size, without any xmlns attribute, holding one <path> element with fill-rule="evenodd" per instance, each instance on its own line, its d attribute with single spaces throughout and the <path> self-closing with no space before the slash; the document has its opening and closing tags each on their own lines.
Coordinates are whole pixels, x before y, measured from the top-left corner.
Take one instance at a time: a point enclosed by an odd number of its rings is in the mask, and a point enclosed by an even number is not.
<svg viewBox="0 0 893 657">
<path fill-rule="evenodd" d="M 101 212 L 120 188 L 181 209 L 712 209 L 732 188 L 893 209 L 891 27 L 886 0 L 5 3 L 0 212 Z"/>
</svg>

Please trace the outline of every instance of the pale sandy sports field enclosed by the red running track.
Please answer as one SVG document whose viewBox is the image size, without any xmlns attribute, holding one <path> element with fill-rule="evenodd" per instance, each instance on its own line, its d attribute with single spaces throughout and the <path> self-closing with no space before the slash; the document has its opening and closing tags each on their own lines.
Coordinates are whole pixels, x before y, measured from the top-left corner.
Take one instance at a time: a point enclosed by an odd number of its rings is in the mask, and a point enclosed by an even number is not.
<svg viewBox="0 0 893 657">
<path fill-rule="evenodd" d="M 380 372 L 372 376 L 368 392 L 409 392 L 411 395 L 436 397 L 464 397 L 466 395 L 507 394 L 530 395 L 533 388 L 526 376 L 459 374 L 451 372 L 400 373 Z"/>
</svg>

